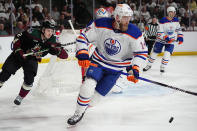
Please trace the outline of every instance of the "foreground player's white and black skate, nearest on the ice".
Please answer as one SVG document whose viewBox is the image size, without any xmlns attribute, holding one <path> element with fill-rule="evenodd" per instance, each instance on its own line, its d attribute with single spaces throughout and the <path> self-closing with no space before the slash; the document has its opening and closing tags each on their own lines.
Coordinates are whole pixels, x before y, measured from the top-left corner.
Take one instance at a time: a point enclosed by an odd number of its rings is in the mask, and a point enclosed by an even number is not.
<svg viewBox="0 0 197 131">
<path fill-rule="evenodd" d="M 75 114 L 68 119 L 67 123 L 69 125 L 76 125 L 83 118 L 84 113 L 81 114 L 76 111 Z"/>
</svg>

